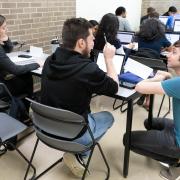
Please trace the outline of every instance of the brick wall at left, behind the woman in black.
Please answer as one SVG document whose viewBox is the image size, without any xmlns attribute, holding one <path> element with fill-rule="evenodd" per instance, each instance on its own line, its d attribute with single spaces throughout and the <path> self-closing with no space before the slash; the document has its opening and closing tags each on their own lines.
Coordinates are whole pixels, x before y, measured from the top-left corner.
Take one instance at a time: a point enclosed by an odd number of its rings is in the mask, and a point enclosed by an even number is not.
<svg viewBox="0 0 180 180">
<path fill-rule="evenodd" d="M 51 51 L 50 42 L 61 35 L 64 20 L 75 17 L 76 0 L 1 0 L 0 14 L 7 18 L 12 40 Z"/>
</svg>

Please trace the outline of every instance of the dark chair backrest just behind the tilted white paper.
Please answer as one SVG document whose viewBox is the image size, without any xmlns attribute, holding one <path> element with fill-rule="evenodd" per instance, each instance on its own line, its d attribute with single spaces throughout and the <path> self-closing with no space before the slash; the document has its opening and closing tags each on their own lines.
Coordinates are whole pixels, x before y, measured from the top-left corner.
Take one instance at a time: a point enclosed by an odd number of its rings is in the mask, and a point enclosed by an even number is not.
<svg viewBox="0 0 180 180">
<path fill-rule="evenodd" d="M 162 59 L 145 58 L 139 56 L 130 56 L 135 61 L 138 61 L 146 66 L 153 68 L 154 70 L 167 71 L 167 65 Z"/>
</svg>

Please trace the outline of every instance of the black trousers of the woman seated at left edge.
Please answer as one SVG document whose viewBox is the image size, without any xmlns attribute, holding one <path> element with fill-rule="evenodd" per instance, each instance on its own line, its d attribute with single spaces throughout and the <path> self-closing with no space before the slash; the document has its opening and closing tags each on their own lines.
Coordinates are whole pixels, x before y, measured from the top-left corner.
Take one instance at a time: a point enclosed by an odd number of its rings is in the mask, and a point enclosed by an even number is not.
<svg viewBox="0 0 180 180">
<path fill-rule="evenodd" d="M 32 98 L 33 95 L 33 79 L 31 73 L 26 73 L 19 75 L 10 80 L 5 80 L 7 88 L 11 94 L 15 97 L 21 97 L 22 95 L 27 95 L 27 97 Z M 29 112 L 30 103 L 22 99 L 27 112 Z"/>
</svg>

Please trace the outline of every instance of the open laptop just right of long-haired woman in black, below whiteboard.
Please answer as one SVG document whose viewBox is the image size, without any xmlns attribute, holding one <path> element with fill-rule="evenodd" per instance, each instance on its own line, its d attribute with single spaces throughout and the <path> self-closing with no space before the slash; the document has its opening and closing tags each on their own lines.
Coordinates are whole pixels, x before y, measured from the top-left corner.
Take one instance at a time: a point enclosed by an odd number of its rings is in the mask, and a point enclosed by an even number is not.
<svg viewBox="0 0 180 180">
<path fill-rule="evenodd" d="M 133 42 L 135 32 L 118 31 L 117 39 L 120 40 L 121 44 L 129 44 Z"/>
</svg>

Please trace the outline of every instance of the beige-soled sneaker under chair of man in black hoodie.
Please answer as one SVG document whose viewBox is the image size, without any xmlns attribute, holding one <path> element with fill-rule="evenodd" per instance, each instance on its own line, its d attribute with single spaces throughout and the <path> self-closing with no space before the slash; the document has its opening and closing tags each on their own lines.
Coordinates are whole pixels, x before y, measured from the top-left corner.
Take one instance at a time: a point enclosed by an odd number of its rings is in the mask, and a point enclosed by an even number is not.
<svg viewBox="0 0 180 180">
<path fill-rule="evenodd" d="M 82 177 L 84 173 L 84 166 L 78 161 L 77 157 L 71 153 L 64 153 L 63 160 L 65 165 L 71 170 L 71 172 L 77 176 Z"/>
</svg>

